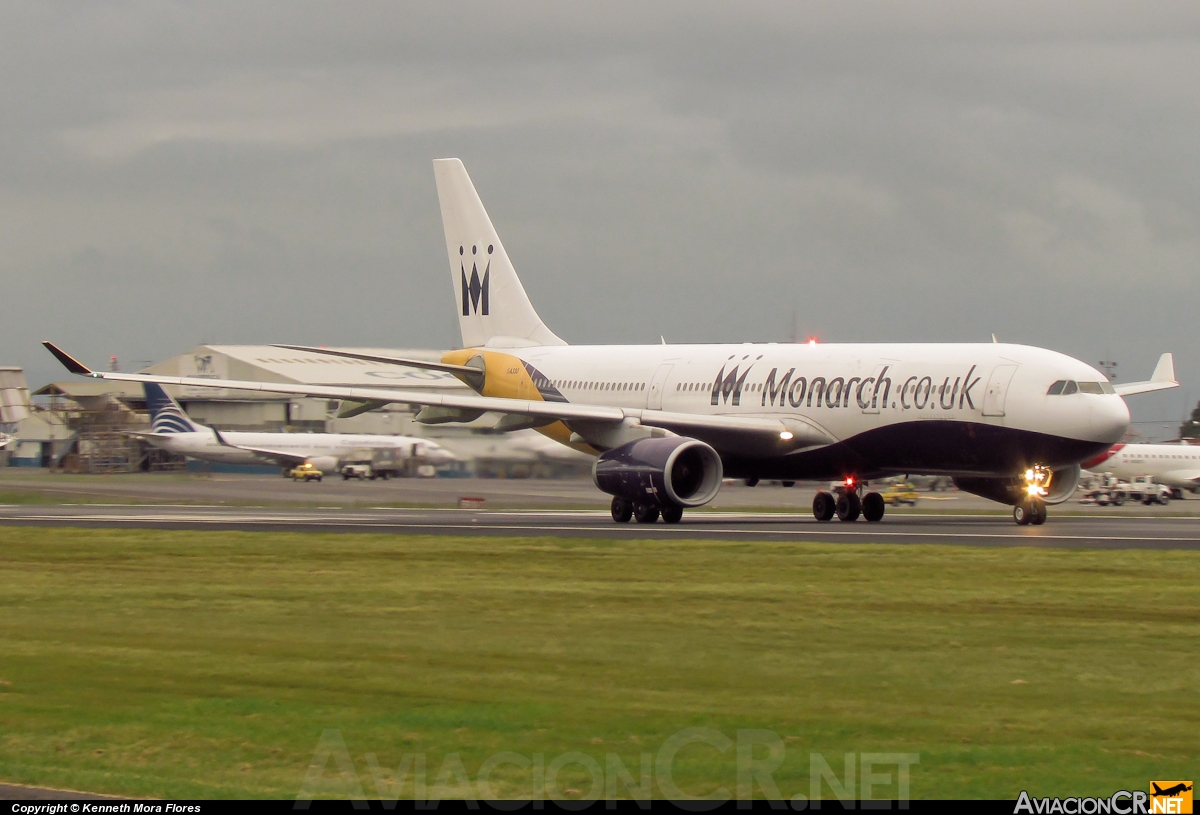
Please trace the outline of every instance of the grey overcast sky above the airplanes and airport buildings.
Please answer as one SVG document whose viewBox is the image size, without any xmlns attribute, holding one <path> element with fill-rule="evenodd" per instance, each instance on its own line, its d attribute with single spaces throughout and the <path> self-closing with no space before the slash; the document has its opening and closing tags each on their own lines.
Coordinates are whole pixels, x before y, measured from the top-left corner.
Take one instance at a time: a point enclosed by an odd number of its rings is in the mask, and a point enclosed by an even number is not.
<svg viewBox="0 0 1200 815">
<path fill-rule="evenodd" d="M 569 342 L 1007 341 L 1200 397 L 1200 6 L 8 2 L 0 364 L 457 342 L 458 156 Z"/>
</svg>

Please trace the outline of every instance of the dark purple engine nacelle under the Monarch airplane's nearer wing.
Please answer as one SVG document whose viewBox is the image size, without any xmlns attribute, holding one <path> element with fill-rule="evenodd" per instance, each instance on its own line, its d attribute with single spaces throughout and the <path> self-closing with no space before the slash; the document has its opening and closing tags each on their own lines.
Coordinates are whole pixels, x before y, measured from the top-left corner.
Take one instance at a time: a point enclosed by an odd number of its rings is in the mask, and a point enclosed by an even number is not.
<svg viewBox="0 0 1200 815">
<path fill-rule="evenodd" d="M 641 438 L 600 454 L 592 480 L 628 501 L 679 507 L 707 504 L 721 489 L 716 450 L 694 438 Z"/>
</svg>

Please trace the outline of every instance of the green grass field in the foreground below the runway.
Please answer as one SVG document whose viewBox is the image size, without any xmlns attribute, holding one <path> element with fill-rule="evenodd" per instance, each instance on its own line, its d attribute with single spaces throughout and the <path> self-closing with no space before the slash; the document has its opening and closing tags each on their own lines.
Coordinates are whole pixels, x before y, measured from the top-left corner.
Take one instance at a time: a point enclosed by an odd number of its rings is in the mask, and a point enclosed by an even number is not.
<svg viewBox="0 0 1200 815">
<path fill-rule="evenodd" d="M 8 783 L 295 797 L 325 729 L 353 762 L 326 793 L 371 796 L 413 754 L 431 785 L 504 750 L 637 778 L 688 727 L 774 731 L 785 796 L 810 753 L 839 778 L 919 754 L 917 797 L 1108 795 L 1200 759 L 1194 552 L 12 527 L 0 552 Z M 674 784 L 733 791 L 736 751 L 684 747 Z"/>
</svg>

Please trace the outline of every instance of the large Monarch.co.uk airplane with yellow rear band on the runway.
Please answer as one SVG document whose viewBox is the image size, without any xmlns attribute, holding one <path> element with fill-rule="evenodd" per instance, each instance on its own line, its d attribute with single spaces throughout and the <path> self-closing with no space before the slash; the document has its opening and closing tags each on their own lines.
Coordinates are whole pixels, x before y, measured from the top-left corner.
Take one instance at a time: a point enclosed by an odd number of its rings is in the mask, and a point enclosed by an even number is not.
<svg viewBox="0 0 1200 815">
<path fill-rule="evenodd" d="M 1009 343 L 742 343 L 569 346 L 538 316 L 462 162 L 433 162 L 463 347 L 426 362 L 280 346 L 446 371 L 475 394 L 221 380 L 91 371 L 46 347 L 73 373 L 342 398 L 364 409 L 422 406 L 425 423 L 503 414 L 596 456 L 593 481 L 613 520 L 678 523 L 710 502 L 722 477 L 840 480 L 812 502 L 818 521 L 883 517 L 871 479 L 949 475 L 962 490 L 1040 525 L 1067 501 L 1079 462 L 1129 425 L 1123 396 L 1174 388 L 1164 354 L 1151 380 L 1114 386 L 1076 359 Z"/>
</svg>

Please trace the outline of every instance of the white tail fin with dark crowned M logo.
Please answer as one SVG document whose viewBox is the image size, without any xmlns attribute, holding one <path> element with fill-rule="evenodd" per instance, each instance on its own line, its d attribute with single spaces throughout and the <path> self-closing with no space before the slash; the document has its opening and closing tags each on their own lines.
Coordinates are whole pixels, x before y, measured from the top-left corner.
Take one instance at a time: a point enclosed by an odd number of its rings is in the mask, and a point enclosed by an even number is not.
<svg viewBox="0 0 1200 815">
<path fill-rule="evenodd" d="M 457 158 L 433 162 L 464 348 L 565 346 L 538 317 L 484 202 Z"/>
</svg>

